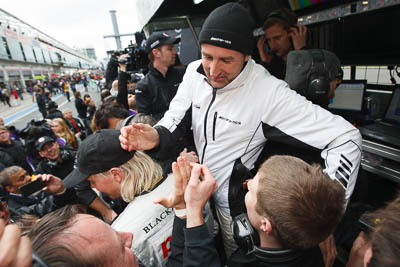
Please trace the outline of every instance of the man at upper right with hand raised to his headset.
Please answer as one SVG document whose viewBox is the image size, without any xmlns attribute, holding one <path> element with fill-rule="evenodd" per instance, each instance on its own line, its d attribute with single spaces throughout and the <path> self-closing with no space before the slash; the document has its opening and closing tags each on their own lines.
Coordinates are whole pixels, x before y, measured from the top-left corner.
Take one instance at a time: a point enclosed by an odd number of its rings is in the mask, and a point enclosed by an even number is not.
<svg viewBox="0 0 400 267">
<path fill-rule="evenodd" d="M 261 64 L 272 75 L 283 80 L 289 52 L 308 49 L 307 28 L 297 24 L 296 15 L 284 8 L 269 13 L 262 28 L 265 35 L 257 42 Z"/>
</svg>

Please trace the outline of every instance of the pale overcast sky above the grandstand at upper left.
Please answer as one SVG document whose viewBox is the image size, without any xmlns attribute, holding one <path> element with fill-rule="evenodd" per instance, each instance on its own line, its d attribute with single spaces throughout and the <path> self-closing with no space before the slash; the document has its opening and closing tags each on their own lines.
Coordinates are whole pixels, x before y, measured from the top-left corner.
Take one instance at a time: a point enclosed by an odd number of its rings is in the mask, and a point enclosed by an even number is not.
<svg viewBox="0 0 400 267">
<path fill-rule="evenodd" d="M 94 47 L 98 59 L 115 50 L 110 10 L 116 10 L 120 33 L 138 29 L 135 0 L 4 0 L 1 8 L 69 47 Z M 134 37 L 123 37 L 122 46 Z"/>
</svg>

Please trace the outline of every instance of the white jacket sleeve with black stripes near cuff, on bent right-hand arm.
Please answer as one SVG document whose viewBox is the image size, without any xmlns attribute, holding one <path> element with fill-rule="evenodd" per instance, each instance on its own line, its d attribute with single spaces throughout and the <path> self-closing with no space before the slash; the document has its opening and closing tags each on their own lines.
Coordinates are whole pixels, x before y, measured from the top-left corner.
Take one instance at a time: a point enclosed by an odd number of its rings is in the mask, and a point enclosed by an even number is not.
<svg viewBox="0 0 400 267">
<path fill-rule="evenodd" d="M 324 172 L 340 182 L 349 200 L 361 161 L 359 131 L 342 117 L 290 90 L 286 83 L 279 81 L 276 85 L 265 103 L 270 106 L 262 119 L 264 136 L 299 148 L 323 150 Z"/>
</svg>

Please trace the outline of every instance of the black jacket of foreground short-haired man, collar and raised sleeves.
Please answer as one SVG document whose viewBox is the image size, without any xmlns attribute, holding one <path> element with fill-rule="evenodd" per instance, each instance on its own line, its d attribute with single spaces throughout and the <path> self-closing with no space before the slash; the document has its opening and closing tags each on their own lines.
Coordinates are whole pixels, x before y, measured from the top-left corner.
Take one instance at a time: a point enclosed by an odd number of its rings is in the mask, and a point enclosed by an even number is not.
<svg viewBox="0 0 400 267">
<path fill-rule="evenodd" d="M 168 267 L 207 266 L 221 267 L 214 240 L 205 224 L 185 228 L 186 220 L 175 216 L 171 239 L 171 256 Z M 183 251 L 183 254 L 182 254 Z M 182 260 L 183 257 L 183 260 Z M 249 255 L 238 249 L 228 260 L 228 266 L 271 266 L 271 267 L 324 267 L 318 247 L 300 251 L 293 249 L 257 248 Z"/>
</svg>

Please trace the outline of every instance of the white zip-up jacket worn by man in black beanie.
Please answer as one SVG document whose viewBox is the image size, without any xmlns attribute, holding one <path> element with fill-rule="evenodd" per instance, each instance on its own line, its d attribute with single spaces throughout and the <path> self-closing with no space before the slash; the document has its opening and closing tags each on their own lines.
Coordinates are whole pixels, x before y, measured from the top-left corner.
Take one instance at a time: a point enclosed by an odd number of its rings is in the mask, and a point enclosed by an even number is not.
<svg viewBox="0 0 400 267">
<path fill-rule="evenodd" d="M 214 199 L 225 212 L 229 213 L 229 178 L 235 160 L 241 158 L 253 168 L 269 138 L 323 149 L 324 171 L 341 183 L 346 199 L 350 198 L 361 160 L 359 131 L 307 101 L 252 59 L 221 89 L 208 83 L 200 60 L 191 63 L 169 110 L 155 126 L 158 132 L 172 134 L 190 107 L 200 163 L 217 180 Z M 160 134 L 160 144 L 163 139 Z"/>
</svg>

